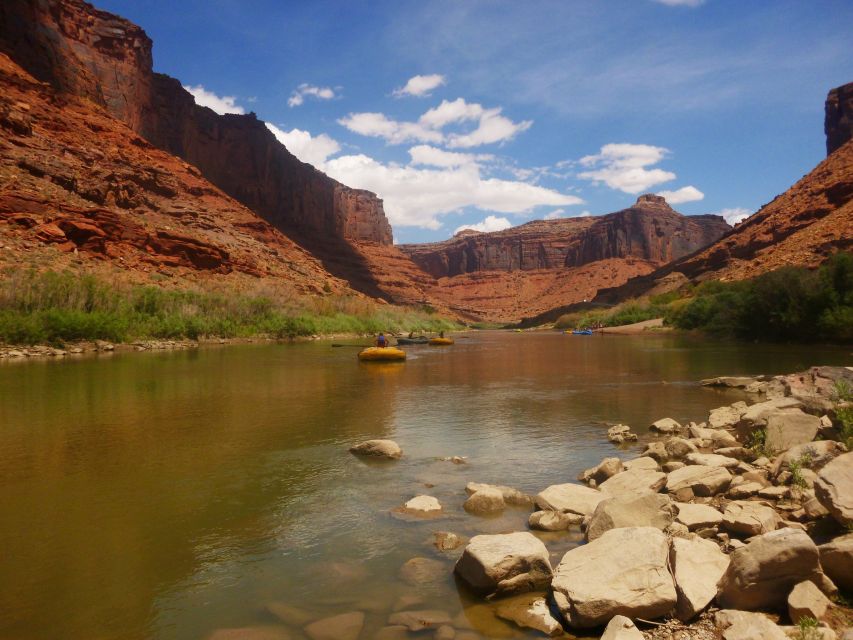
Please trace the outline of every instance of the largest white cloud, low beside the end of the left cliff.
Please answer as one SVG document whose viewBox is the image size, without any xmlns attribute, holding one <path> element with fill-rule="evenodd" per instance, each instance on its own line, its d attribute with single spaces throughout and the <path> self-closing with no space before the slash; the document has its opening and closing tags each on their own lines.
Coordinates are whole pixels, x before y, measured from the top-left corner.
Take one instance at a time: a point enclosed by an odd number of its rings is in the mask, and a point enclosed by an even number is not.
<svg viewBox="0 0 853 640">
<path fill-rule="evenodd" d="M 431 154 L 421 150 L 412 155 L 413 158 L 424 155 L 426 158 L 421 157 L 421 160 L 433 162 L 446 159 Z M 452 161 L 456 162 L 456 159 Z M 483 178 L 479 165 L 474 162 L 420 168 L 383 164 L 359 154 L 334 158 L 322 168 L 346 185 L 378 194 L 385 201 L 388 219 L 397 226 L 438 229 L 443 215 L 465 207 L 497 213 L 524 213 L 537 206 L 568 206 L 583 202 L 577 196 L 525 182 Z"/>
</svg>

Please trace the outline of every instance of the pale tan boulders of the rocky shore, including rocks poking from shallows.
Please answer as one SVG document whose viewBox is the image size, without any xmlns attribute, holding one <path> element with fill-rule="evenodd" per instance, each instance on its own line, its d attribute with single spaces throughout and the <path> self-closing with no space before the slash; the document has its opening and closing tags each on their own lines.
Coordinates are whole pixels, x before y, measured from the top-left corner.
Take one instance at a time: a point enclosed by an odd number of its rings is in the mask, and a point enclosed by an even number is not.
<svg viewBox="0 0 853 640">
<path fill-rule="evenodd" d="M 469 517 L 509 507 L 532 512 L 527 530 L 475 535 L 467 544 L 435 532 L 440 551 L 461 551 L 453 569 L 460 589 L 519 632 L 551 637 L 851 640 L 853 368 L 703 384 L 741 389 L 750 402 L 714 409 L 702 423 L 658 420 L 638 457 L 607 458 L 579 483 L 535 496 L 469 483 Z M 617 425 L 609 435 L 621 446 L 632 433 Z M 352 452 L 403 455 L 392 441 Z M 434 518 L 443 506 L 422 495 L 396 511 Z M 586 544 L 553 566 L 544 532 L 573 530 Z M 415 583 L 432 570 L 418 562 L 448 570 L 413 558 L 401 572 Z M 339 618 L 315 620 L 303 632 L 312 640 L 362 637 L 361 625 L 343 633 Z M 403 606 L 370 637 L 487 636 L 461 614 Z"/>
</svg>

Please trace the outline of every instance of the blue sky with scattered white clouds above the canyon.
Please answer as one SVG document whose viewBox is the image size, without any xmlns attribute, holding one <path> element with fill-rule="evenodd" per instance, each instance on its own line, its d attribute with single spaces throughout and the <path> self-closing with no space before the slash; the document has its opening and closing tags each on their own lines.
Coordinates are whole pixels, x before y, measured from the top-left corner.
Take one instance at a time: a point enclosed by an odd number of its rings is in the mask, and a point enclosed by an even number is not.
<svg viewBox="0 0 853 640">
<path fill-rule="evenodd" d="M 849 0 L 94 0 L 154 68 L 376 192 L 395 242 L 600 215 L 743 219 L 826 155 Z"/>
</svg>

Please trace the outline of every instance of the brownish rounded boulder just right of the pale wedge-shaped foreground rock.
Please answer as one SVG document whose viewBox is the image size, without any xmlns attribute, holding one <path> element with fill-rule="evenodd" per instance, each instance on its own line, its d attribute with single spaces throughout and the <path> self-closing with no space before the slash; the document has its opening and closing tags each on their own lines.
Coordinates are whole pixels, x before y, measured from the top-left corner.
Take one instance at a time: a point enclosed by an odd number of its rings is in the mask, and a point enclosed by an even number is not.
<svg viewBox="0 0 853 640">
<path fill-rule="evenodd" d="M 777 608 L 794 585 L 822 576 L 818 550 L 798 529 L 757 536 L 729 556 L 717 602 L 733 609 Z"/>
</svg>

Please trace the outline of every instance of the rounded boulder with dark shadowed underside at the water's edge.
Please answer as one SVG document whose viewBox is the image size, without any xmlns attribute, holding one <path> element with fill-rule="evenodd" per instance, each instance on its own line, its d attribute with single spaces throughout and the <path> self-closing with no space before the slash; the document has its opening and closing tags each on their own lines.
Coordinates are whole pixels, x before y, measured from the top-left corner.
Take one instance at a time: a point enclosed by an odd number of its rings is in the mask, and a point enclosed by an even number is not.
<svg viewBox="0 0 853 640">
<path fill-rule="evenodd" d="M 548 585 L 548 550 L 527 531 L 474 536 L 456 563 L 456 574 L 475 591 L 510 595 Z"/>
</svg>

